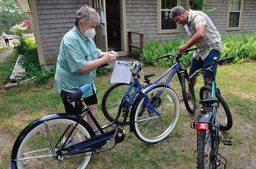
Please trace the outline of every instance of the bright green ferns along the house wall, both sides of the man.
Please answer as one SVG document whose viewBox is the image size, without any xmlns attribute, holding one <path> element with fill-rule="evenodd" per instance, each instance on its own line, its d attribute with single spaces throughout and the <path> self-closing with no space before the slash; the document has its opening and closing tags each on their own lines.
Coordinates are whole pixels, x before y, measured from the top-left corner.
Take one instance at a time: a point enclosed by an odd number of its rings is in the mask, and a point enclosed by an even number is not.
<svg viewBox="0 0 256 169">
<path fill-rule="evenodd" d="M 157 40 L 147 41 L 143 48 L 143 55 L 139 50 L 136 50 L 137 55 L 146 65 L 150 66 L 166 66 L 170 67 L 176 61 L 175 59 L 156 59 L 157 55 L 164 54 L 177 54 L 179 46 L 186 43 L 186 39 L 169 40 L 168 42 L 161 43 Z M 243 62 L 256 60 L 256 31 L 250 34 L 233 34 L 230 36 L 222 37 L 223 52 L 221 58 L 233 56 L 233 62 Z M 182 55 L 180 62 L 183 66 L 189 66 L 193 54 Z"/>
</svg>

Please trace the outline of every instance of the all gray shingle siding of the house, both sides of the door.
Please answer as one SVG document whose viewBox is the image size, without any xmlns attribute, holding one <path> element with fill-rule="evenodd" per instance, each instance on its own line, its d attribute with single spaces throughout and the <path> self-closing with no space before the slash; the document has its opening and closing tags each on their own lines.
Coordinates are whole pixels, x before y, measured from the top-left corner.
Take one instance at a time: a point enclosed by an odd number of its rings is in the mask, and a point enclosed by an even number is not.
<svg viewBox="0 0 256 169">
<path fill-rule="evenodd" d="M 89 0 L 35 0 L 40 29 L 40 38 L 44 53 L 45 64 L 56 62 L 60 42 L 64 34 L 74 26 L 74 15 Z M 180 0 L 186 8 L 186 0 Z M 220 34 L 250 33 L 256 29 L 256 1 L 244 0 L 241 30 L 227 31 L 228 0 L 206 1 L 207 12 Z M 127 32 L 144 34 L 144 45 L 148 40 L 168 41 L 188 38 L 183 26 L 179 33 L 157 33 L 157 0 L 125 0 L 126 36 Z M 128 42 L 126 42 L 128 43 Z M 140 45 L 140 36 L 132 35 L 132 45 Z"/>
</svg>

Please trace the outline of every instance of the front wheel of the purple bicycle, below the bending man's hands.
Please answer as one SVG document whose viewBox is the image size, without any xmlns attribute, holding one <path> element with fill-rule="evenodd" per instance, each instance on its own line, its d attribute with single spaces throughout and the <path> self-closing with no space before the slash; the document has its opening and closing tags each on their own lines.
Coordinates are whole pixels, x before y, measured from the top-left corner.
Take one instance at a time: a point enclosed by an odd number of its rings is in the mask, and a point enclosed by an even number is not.
<svg viewBox="0 0 256 169">
<path fill-rule="evenodd" d="M 194 87 L 191 80 L 186 78 L 186 75 L 184 73 L 181 75 L 181 91 L 185 107 L 188 110 L 189 114 L 195 114 L 196 98 Z"/>
</svg>

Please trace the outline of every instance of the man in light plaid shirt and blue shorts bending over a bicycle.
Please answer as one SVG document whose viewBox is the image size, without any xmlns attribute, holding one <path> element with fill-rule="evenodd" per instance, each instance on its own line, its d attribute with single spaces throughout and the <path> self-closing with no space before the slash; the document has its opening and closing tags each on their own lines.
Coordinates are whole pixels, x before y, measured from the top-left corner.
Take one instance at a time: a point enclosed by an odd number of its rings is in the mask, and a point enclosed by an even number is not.
<svg viewBox="0 0 256 169">
<path fill-rule="evenodd" d="M 214 26 L 211 18 L 202 11 L 185 10 L 181 6 L 175 6 L 170 12 L 170 19 L 176 24 L 182 24 L 188 35 L 189 40 L 178 49 L 180 53 L 188 50 L 193 45 L 197 50 L 193 54 L 193 59 L 189 68 L 189 75 L 192 75 L 200 68 L 209 68 L 214 63 L 213 58 L 220 58 L 222 52 L 220 33 Z M 217 65 L 213 68 L 214 77 L 217 72 Z M 204 78 L 207 82 L 211 80 L 211 74 L 206 72 Z M 196 77 L 192 80 L 196 84 Z"/>
</svg>

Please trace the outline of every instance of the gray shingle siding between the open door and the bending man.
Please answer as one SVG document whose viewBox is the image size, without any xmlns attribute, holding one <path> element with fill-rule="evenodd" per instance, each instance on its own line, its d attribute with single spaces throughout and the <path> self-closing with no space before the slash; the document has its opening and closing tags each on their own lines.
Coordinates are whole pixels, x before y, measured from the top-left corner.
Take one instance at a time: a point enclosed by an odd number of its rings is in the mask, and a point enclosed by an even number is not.
<svg viewBox="0 0 256 169">
<path fill-rule="evenodd" d="M 182 1 L 182 6 L 186 6 L 186 1 Z M 177 40 L 187 37 L 184 28 L 180 33 L 157 34 L 157 1 L 156 0 L 127 0 L 126 7 L 126 27 L 127 32 L 144 34 L 144 44 L 148 40 L 167 41 Z M 140 45 L 140 36 L 132 36 L 132 44 Z"/>
</svg>

